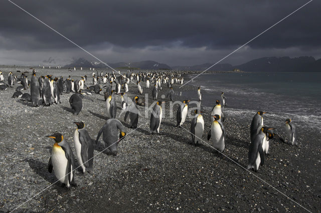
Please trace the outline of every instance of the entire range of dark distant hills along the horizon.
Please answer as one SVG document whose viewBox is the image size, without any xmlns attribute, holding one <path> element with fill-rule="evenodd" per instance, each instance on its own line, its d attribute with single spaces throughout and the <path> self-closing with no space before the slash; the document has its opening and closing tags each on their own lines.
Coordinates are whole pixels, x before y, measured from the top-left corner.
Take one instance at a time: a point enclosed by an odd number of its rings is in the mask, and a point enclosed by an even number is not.
<svg viewBox="0 0 321 213">
<path fill-rule="evenodd" d="M 153 60 L 143 60 L 137 62 L 118 62 L 107 63 L 113 68 L 122 67 L 125 68 L 128 65 L 138 69 L 174 69 L 174 70 L 205 70 L 213 63 L 204 63 L 192 66 L 169 66 L 165 63 L 159 63 Z M 97 61 L 88 61 L 84 58 L 79 58 L 73 61 L 71 64 L 65 65 L 68 67 L 94 67 L 105 68 L 105 64 Z M 229 63 L 219 63 L 211 67 L 209 71 L 231 71 L 233 69 L 240 69 L 247 72 L 321 72 L 321 59 L 315 60 L 312 56 L 300 56 L 290 58 L 284 57 L 261 57 L 254 60 L 250 60 L 246 63 L 242 63 L 233 66 Z"/>
</svg>

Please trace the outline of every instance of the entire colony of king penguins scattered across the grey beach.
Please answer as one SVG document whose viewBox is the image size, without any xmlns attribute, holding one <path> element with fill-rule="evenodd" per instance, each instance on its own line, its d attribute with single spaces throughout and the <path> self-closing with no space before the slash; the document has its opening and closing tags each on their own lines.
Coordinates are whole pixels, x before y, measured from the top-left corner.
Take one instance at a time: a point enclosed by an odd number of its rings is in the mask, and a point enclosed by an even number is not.
<svg viewBox="0 0 321 213">
<path fill-rule="evenodd" d="M 87 98 L 93 101 L 88 95 L 92 95 L 93 92 L 99 94 L 102 91 L 102 84 L 105 84 L 106 91 L 104 91 L 104 97 L 106 102 L 107 115 L 110 117 L 106 123 L 99 130 L 96 144 L 101 134 L 103 134 L 104 146 L 110 150 L 113 155 L 117 154 L 117 145 L 126 135 L 126 129 L 124 125 L 116 119 L 116 99 L 115 94 L 121 95 L 121 112 L 125 113 L 124 121 L 129 122 L 130 128 L 137 128 L 138 123 L 138 108 L 137 105 L 144 105 L 142 98 L 138 95 L 142 95 L 141 81 L 145 82 L 145 87 L 148 89 L 150 84 L 153 83 L 152 97 L 157 100 L 157 94 L 159 90 L 162 90 L 162 84 L 167 84 L 169 92 L 167 97 L 173 101 L 175 98 L 175 92 L 173 90 L 173 84 L 184 84 L 184 77 L 181 72 L 130 72 L 121 74 L 119 71 L 106 73 L 103 75 L 98 71 L 92 73 L 93 85 L 86 86 L 85 82 L 87 76 L 82 76 L 80 80 L 74 80 L 70 77 L 64 80 L 63 77 L 55 77 L 52 75 L 36 77 L 36 71 L 33 69 L 31 81 L 27 78 L 28 72 L 23 72 L 20 78 L 17 78 L 12 72 L 9 72 L 8 84 L 4 82 L 4 75 L 0 71 L 0 90 L 7 90 L 8 87 L 13 87 L 15 83 L 21 83 L 22 86 L 18 86 L 14 92 L 13 97 L 21 97 L 25 101 L 31 101 L 32 106 L 50 106 L 53 103 L 61 103 L 60 95 L 63 93 L 74 92 L 69 98 L 71 112 L 78 115 L 83 107 L 82 98 Z M 119 74 L 116 77 L 116 74 Z M 130 99 L 126 92 L 128 92 L 128 84 L 136 80 L 137 93 L 132 99 Z M 113 89 L 113 84 L 115 87 Z M 30 86 L 29 93 L 22 93 L 22 90 L 27 89 Z M 198 101 L 202 100 L 201 87 L 197 90 Z M 152 108 L 150 114 L 150 133 L 159 133 L 161 126 L 163 112 L 162 103 L 164 101 L 158 100 Z M 177 124 L 176 126 L 182 127 L 188 114 L 188 104 L 190 100 L 183 100 L 177 110 Z M 222 103 L 222 105 L 221 105 Z M 226 132 L 223 125 L 225 120 L 222 109 L 226 106 L 226 97 L 224 92 L 221 94 L 221 100 L 216 100 L 216 104 L 213 106 L 210 117 L 212 121 L 211 129 L 208 132 L 208 140 L 212 138 L 213 147 L 222 152 L 225 148 Z M 192 143 L 198 145 L 202 140 L 204 132 L 204 119 L 203 112 L 200 109 L 196 109 L 195 116 L 191 122 L 191 136 Z M 265 112 L 258 111 L 251 122 L 250 137 L 251 143 L 248 152 L 248 164 L 247 169 L 253 168 L 255 171 L 258 170 L 259 165 L 264 163 L 264 154 L 268 154 L 269 140 L 274 138 L 280 141 L 284 140 L 273 132 L 273 128 L 267 127 L 263 124 L 262 115 Z M 92 173 L 93 171 L 93 140 L 89 136 L 85 129 L 85 123 L 83 121 L 74 122 L 77 125 L 77 129 L 74 132 L 74 145 L 77 160 L 82 172 L 86 171 Z M 119 130 L 119 134 L 118 134 Z M 296 127 L 291 119 L 285 120 L 285 130 L 287 132 L 288 140 L 290 143 L 297 144 L 296 141 Z M 56 177 L 64 186 L 68 188 L 71 185 L 76 185 L 75 177 L 75 160 L 72 149 L 69 143 L 64 139 L 61 133 L 55 132 L 47 137 L 53 138 L 55 143 L 52 147 L 51 157 L 48 163 L 48 171 L 54 170 Z"/>
</svg>

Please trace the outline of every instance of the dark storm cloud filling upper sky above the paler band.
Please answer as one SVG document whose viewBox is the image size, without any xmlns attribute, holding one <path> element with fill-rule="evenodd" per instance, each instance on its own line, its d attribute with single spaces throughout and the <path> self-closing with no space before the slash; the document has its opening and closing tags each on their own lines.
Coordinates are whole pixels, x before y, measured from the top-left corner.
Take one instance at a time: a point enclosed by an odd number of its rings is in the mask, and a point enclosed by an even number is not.
<svg viewBox="0 0 321 213">
<path fill-rule="evenodd" d="M 81 46 L 143 49 L 233 49 L 254 37 L 306 0 L 15 0 Z M 73 44 L 21 9 L 2 1 L 0 46 L 4 49 L 61 49 Z M 314 0 L 249 44 L 252 49 L 313 49 L 321 46 Z M 144 59 L 144 58 L 141 58 Z M 43 58 L 42 58 L 43 60 Z M 121 59 L 120 59 L 121 60 Z"/>
</svg>

